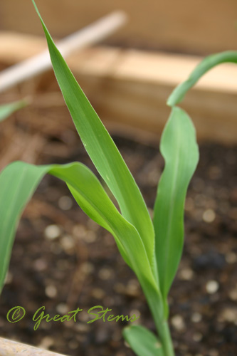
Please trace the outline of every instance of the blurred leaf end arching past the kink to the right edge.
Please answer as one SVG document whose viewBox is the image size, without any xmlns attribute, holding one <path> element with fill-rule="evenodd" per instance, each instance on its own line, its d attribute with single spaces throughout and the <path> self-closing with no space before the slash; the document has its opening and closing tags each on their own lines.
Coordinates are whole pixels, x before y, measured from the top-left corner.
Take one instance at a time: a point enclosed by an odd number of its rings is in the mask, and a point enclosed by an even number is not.
<svg viewBox="0 0 237 356">
<path fill-rule="evenodd" d="M 181 100 L 184 99 L 186 92 L 196 84 L 202 75 L 208 72 L 211 68 L 226 62 L 237 63 L 237 51 L 216 53 L 204 58 L 204 60 L 191 72 L 189 78 L 179 84 L 177 88 L 173 90 L 171 95 L 169 95 L 167 105 L 174 106 L 180 103 Z"/>
</svg>

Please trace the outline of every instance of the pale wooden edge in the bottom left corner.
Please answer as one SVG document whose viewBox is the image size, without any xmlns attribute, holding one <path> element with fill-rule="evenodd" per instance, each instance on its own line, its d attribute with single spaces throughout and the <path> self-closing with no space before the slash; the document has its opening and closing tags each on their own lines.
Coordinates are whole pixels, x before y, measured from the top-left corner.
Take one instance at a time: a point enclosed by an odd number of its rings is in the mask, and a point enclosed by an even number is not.
<svg viewBox="0 0 237 356">
<path fill-rule="evenodd" d="M 15 356 L 19 354 L 24 356 L 63 356 L 56 352 L 42 350 L 38 347 L 0 337 L 0 356 Z"/>
</svg>

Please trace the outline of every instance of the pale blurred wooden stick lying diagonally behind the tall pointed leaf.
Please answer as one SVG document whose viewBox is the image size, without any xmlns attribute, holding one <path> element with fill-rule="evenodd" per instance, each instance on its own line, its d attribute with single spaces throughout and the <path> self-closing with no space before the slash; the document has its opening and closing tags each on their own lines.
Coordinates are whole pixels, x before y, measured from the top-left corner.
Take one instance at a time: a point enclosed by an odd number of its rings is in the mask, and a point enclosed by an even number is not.
<svg viewBox="0 0 237 356">
<path fill-rule="evenodd" d="M 115 11 L 59 41 L 58 49 L 62 56 L 66 57 L 79 48 L 84 48 L 109 36 L 122 26 L 126 19 L 124 12 Z M 23 80 L 43 73 L 48 68 L 51 68 L 51 60 L 47 49 L 33 58 L 3 70 L 0 73 L 0 93 L 23 82 Z"/>
</svg>

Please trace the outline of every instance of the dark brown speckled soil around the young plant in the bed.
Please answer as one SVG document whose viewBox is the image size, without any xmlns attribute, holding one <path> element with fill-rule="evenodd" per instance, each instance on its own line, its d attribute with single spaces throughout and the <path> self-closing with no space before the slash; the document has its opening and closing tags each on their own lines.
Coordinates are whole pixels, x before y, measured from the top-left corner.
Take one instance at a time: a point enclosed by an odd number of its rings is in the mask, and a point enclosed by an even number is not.
<svg viewBox="0 0 237 356">
<path fill-rule="evenodd" d="M 152 209 L 162 157 L 154 147 L 120 137 L 115 142 Z M 73 155 L 42 161 L 79 160 L 93 167 L 79 139 L 67 145 Z M 201 145 L 200 153 L 186 199 L 184 255 L 169 295 L 172 337 L 177 356 L 236 356 L 236 148 Z M 6 313 L 16 305 L 26 316 L 9 323 Z M 51 317 L 83 311 L 76 323 L 42 321 L 33 330 L 33 314 L 43 305 Z M 1 295 L 0 335 L 66 355 L 133 355 L 122 339 L 126 322 L 87 323 L 87 310 L 95 305 L 114 315 L 140 315 L 139 323 L 154 330 L 137 279 L 112 236 L 85 216 L 65 184 L 47 176 L 19 224 Z"/>
</svg>

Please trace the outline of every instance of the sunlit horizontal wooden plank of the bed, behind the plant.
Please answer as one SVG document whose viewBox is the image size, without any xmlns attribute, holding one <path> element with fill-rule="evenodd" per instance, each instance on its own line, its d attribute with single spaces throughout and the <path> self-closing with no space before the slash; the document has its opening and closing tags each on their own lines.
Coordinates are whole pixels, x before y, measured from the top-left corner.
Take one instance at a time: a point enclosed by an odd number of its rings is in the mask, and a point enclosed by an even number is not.
<svg viewBox="0 0 237 356">
<path fill-rule="evenodd" d="M 31 41 L 36 43 L 34 37 L 18 35 L 12 40 L 11 47 L 4 34 L 0 35 L 0 62 L 12 63 L 13 58 L 20 61 L 36 54 L 36 46 L 31 46 Z M 42 41 L 42 50 L 44 40 L 37 41 Z M 1 45 L 6 42 L 7 51 Z M 22 46 L 17 53 L 15 42 Z M 108 127 L 123 132 L 132 127 L 133 132 L 147 132 L 149 137 L 162 132 L 169 116 L 169 93 L 199 61 L 201 58 L 193 56 L 106 47 L 88 48 L 68 58 L 70 68 Z M 236 94 L 237 66 L 232 64 L 215 68 L 189 92 L 182 106 L 193 118 L 199 139 L 236 142 Z"/>
</svg>

